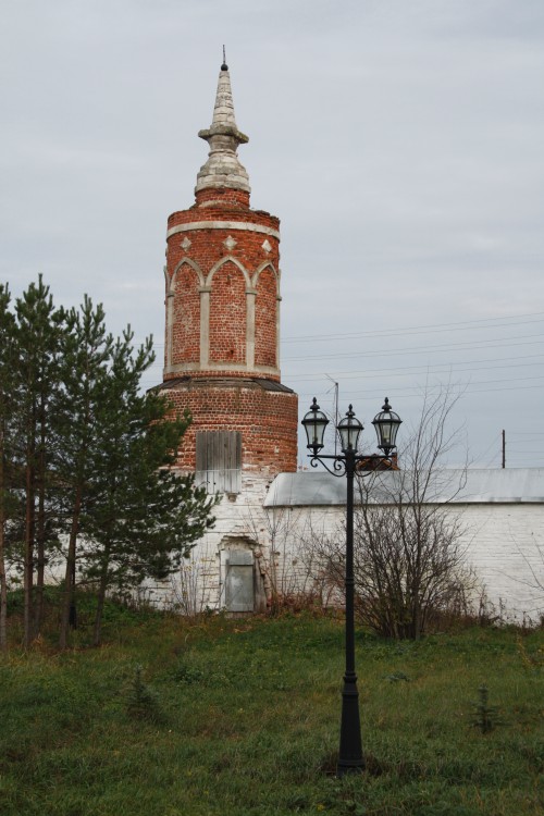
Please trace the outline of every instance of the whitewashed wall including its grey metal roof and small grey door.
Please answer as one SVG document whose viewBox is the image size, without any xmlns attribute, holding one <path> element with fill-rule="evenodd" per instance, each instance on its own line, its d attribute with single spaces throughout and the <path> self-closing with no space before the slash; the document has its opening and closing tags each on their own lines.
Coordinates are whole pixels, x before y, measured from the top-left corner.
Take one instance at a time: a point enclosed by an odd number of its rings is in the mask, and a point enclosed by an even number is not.
<svg viewBox="0 0 544 816">
<path fill-rule="evenodd" d="M 380 474 L 370 500 L 387 504 L 390 490 L 380 482 L 394 479 L 392 471 Z M 469 470 L 466 480 L 461 471 L 443 471 L 433 499 L 448 500 L 461 482 L 448 511 L 462 517 L 461 544 L 479 593 L 503 619 L 537 621 L 544 614 L 544 469 Z M 166 603 L 188 614 L 251 613 L 263 611 L 274 592 L 319 596 L 323 586 L 307 545 L 312 536 L 343 534 L 345 500 L 345 479 L 324 471 L 274 480 L 244 473 L 242 492 L 222 498 L 215 527 L 166 590 Z M 148 591 L 164 602 L 164 588 Z"/>
</svg>

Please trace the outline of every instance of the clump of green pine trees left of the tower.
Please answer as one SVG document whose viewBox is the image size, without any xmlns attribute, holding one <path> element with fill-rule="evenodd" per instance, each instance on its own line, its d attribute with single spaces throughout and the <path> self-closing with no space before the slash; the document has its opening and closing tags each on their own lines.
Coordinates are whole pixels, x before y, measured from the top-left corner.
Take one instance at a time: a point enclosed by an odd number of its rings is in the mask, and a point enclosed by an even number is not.
<svg viewBox="0 0 544 816">
<path fill-rule="evenodd" d="M 75 623 L 76 561 L 106 593 L 169 576 L 213 523 L 215 499 L 176 474 L 189 417 L 143 394 L 152 341 L 115 342 L 101 306 L 55 309 L 41 276 L 10 311 L 0 286 L 0 647 L 5 644 L 5 543 L 23 571 L 24 642 L 39 633 L 46 566 L 67 543 L 60 645 Z M 36 579 L 36 580 L 35 580 Z"/>
</svg>

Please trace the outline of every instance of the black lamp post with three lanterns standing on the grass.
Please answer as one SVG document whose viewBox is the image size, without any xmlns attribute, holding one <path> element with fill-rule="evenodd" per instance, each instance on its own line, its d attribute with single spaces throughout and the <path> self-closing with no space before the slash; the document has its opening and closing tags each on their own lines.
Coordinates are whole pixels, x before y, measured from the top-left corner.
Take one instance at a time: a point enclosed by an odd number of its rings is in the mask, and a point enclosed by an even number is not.
<svg viewBox="0 0 544 816">
<path fill-rule="evenodd" d="M 374 460 L 378 458 L 382 461 L 391 461 L 391 453 L 395 448 L 395 440 L 401 421 L 400 417 L 392 411 L 390 400 L 385 397 L 382 410 L 372 420 L 378 435 L 378 447 L 383 450 L 383 456 L 373 457 Z M 308 436 L 308 448 L 311 450 L 310 463 L 313 468 L 317 468 L 318 462 L 321 462 L 333 475 L 345 474 L 347 477 L 346 671 L 342 691 L 341 742 L 336 768 L 336 776 L 343 777 L 345 774 L 360 772 L 364 768 L 359 719 L 359 692 L 357 691 L 357 675 L 355 671 L 354 477 L 357 463 L 367 460 L 369 457 L 357 453 L 359 435 L 363 428 L 355 416 L 353 406 L 349 406 L 346 416 L 336 426 L 342 442 L 342 454 L 332 456 L 320 453 L 327 424 L 327 418 L 320 410 L 317 399 L 313 397 L 311 408 L 302 419 L 302 425 Z M 325 459 L 333 460 L 332 468 L 327 466 Z"/>
</svg>

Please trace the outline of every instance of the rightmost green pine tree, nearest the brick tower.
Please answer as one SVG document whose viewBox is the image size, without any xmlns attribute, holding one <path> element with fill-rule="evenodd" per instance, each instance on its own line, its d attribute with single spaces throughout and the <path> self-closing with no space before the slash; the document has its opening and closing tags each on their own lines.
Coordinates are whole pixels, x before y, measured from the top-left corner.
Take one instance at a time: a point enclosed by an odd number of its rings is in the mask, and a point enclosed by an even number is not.
<svg viewBox="0 0 544 816">
<path fill-rule="evenodd" d="M 127 330 L 118 339 L 99 384 L 97 456 L 81 524 L 85 576 L 98 584 L 96 644 L 107 591 L 166 577 L 213 523 L 214 499 L 195 490 L 190 477 L 169 470 L 189 419 L 169 420 L 163 397 L 139 393 L 141 374 L 154 357 L 150 338 L 136 354 L 132 338 Z"/>
</svg>

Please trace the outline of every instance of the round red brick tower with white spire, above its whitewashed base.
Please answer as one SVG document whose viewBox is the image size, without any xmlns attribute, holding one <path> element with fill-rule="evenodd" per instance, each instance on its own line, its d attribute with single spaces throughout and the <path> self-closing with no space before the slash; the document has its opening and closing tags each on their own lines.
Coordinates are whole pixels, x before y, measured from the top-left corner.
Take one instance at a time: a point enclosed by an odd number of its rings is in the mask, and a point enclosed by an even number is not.
<svg viewBox="0 0 544 816">
<path fill-rule="evenodd" d="M 234 116 L 221 66 L 213 120 L 200 131 L 208 161 L 196 201 L 170 215 L 161 391 L 188 408 L 180 466 L 236 493 L 242 473 L 295 471 L 297 396 L 280 374 L 280 220 L 249 207 Z"/>
</svg>

